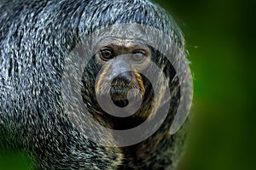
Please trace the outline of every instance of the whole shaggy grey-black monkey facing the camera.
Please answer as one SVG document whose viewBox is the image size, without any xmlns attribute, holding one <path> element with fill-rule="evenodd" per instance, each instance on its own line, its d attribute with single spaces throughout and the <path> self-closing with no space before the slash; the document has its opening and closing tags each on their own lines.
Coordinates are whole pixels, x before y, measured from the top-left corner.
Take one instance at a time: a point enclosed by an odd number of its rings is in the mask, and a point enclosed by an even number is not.
<svg viewBox="0 0 256 170">
<path fill-rule="evenodd" d="M 183 33 L 163 8 L 149 0 L 4 0 L 0 23 L 3 148 L 26 151 L 32 169 L 177 168 L 187 122 L 177 133 L 170 128 L 192 92 Z M 170 38 L 158 39 L 155 31 Z M 160 93 L 147 71 L 161 77 Z M 155 131 L 144 137 L 148 129 L 138 128 L 142 140 L 134 144 L 126 140 L 136 135 L 112 133 L 155 117 Z"/>
</svg>

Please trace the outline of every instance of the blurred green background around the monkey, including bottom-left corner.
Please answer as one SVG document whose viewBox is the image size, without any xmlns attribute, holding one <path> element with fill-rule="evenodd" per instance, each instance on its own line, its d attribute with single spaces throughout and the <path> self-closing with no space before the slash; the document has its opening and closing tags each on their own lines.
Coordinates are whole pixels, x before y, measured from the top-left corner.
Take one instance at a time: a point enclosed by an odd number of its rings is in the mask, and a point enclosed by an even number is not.
<svg viewBox="0 0 256 170">
<path fill-rule="evenodd" d="M 157 0 L 177 20 L 194 76 L 190 135 L 179 170 L 256 169 L 253 0 Z M 0 154 L 0 169 L 27 169 Z M 2 167 L 2 168 L 1 168 Z"/>
</svg>

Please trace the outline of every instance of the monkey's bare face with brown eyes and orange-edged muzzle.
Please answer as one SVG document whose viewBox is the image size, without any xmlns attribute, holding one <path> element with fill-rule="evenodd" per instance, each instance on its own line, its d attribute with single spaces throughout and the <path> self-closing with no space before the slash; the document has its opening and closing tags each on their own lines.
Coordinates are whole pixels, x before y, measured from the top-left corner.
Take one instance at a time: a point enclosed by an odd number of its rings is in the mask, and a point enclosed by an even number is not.
<svg viewBox="0 0 256 170">
<path fill-rule="evenodd" d="M 96 95 L 110 95 L 119 107 L 136 104 L 138 98 L 142 99 L 145 86 L 138 72 L 149 65 L 150 48 L 143 42 L 109 37 L 98 42 L 95 51 L 96 61 L 102 65 L 96 80 Z"/>
</svg>

